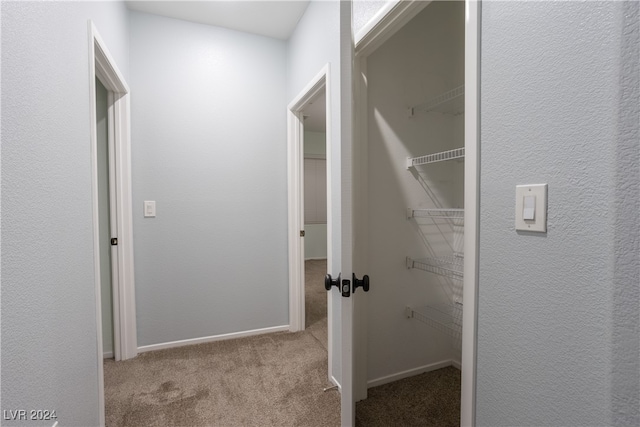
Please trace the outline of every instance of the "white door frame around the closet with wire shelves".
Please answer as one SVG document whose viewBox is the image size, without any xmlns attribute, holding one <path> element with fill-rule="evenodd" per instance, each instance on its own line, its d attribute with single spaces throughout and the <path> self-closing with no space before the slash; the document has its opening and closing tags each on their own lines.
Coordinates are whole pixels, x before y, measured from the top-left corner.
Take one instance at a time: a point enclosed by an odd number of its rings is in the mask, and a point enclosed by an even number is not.
<svg viewBox="0 0 640 427">
<path fill-rule="evenodd" d="M 354 177 L 361 196 L 355 198 L 355 212 L 366 213 L 367 166 L 367 57 L 402 28 L 431 1 L 395 0 L 387 2 L 378 13 L 355 35 L 355 105 L 356 105 L 356 165 Z M 478 247 L 480 205 L 480 0 L 465 0 L 465 257 L 464 257 L 464 308 L 462 333 L 462 391 L 460 425 L 475 425 L 476 406 L 476 349 L 477 349 L 477 295 L 478 295 Z M 362 160 L 365 159 L 365 160 Z M 358 166 L 359 165 L 359 166 Z M 366 218 L 366 215 L 359 218 Z M 366 268 L 367 236 L 362 230 L 364 222 L 356 225 L 356 268 Z M 360 236 L 360 238 L 358 238 Z M 357 306 L 356 306 L 357 307 Z M 357 318 L 363 317 L 357 315 Z M 360 331 L 360 329 L 358 329 Z M 366 345 L 356 337 L 358 346 Z M 358 365 L 366 365 L 366 352 L 356 353 Z M 366 377 L 356 376 L 355 389 L 366 397 Z M 362 390 L 364 388 L 364 391 Z"/>
</svg>

